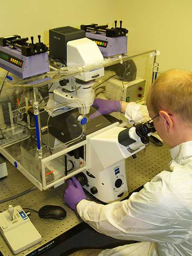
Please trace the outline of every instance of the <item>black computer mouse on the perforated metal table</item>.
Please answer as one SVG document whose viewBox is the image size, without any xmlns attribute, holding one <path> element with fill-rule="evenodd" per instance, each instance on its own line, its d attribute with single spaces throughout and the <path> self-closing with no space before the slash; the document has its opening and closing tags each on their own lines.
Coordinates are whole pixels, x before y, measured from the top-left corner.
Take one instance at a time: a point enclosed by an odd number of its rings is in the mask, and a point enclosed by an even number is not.
<svg viewBox="0 0 192 256">
<path fill-rule="evenodd" d="M 57 218 L 63 219 L 66 217 L 66 210 L 57 205 L 45 205 L 38 211 L 41 218 Z"/>
</svg>

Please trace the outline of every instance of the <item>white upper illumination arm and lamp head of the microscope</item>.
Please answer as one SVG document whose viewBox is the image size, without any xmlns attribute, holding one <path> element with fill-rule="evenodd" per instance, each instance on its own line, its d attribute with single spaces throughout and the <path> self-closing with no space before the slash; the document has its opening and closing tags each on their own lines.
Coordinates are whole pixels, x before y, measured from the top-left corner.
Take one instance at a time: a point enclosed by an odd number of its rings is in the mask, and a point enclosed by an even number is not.
<svg viewBox="0 0 192 256">
<path fill-rule="evenodd" d="M 103 55 L 95 42 L 88 38 L 76 39 L 67 43 L 67 67 L 90 66 L 99 61 L 103 61 Z M 90 106 L 94 101 L 93 79 L 104 76 L 104 68 L 89 70 L 88 72 L 80 73 L 77 76 L 71 77 L 66 87 L 58 87 L 53 90 L 53 96 L 47 104 L 47 108 L 54 108 L 55 103 L 63 104 L 69 100 L 81 100 L 85 105 L 85 113 L 88 114 Z M 79 79 L 79 81 L 76 81 Z M 84 81 L 81 83 L 81 81 Z M 79 105 L 72 103 L 68 105 L 72 108 L 79 108 Z M 63 111 L 65 112 L 65 111 Z M 55 112 L 54 115 L 60 114 Z M 79 113 L 83 113 L 82 108 L 79 108 Z"/>
</svg>

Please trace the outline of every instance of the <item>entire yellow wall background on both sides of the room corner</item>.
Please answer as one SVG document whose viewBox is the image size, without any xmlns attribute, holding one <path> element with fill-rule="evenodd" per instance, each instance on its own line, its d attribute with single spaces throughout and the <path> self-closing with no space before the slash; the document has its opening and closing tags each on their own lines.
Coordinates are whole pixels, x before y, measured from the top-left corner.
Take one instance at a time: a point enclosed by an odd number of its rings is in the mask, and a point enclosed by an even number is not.
<svg viewBox="0 0 192 256">
<path fill-rule="evenodd" d="M 49 29 L 98 23 L 114 26 L 123 21 L 129 30 L 128 51 L 157 49 L 159 71 L 192 71 L 192 0 L 9 0 L 0 4 L 0 36 L 41 35 Z"/>
</svg>

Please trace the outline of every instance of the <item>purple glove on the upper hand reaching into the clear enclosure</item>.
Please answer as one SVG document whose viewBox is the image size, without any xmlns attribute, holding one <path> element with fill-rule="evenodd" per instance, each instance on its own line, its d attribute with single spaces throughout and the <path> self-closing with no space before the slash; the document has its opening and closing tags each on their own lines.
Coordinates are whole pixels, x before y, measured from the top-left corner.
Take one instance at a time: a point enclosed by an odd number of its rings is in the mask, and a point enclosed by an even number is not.
<svg viewBox="0 0 192 256">
<path fill-rule="evenodd" d="M 98 107 L 98 110 L 89 116 L 90 120 L 100 115 L 111 114 L 113 112 L 120 112 L 121 102 L 120 100 L 95 99 L 92 107 Z"/>
</svg>

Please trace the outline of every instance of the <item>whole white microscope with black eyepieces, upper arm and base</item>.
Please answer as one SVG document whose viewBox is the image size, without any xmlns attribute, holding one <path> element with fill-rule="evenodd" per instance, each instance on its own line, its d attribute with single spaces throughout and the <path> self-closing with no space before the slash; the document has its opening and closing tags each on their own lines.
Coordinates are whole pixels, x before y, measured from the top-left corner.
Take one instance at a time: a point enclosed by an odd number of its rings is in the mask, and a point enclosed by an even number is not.
<svg viewBox="0 0 192 256">
<path fill-rule="evenodd" d="M 61 29 L 65 34 L 66 28 Z M 51 35 L 53 32 L 55 33 L 55 29 L 51 30 Z M 66 39 L 63 41 L 66 41 Z M 50 52 L 52 52 L 51 45 Z M 58 54 L 55 53 L 55 55 L 58 58 Z M 61 56 L 59 58 L 61 59 Z M 66 56 L 63 56 L 62 59 L 64 58 L 67 67 L 81 67 L 96 62 L 99 63 L 103 60 L 103 55 L 96 42 L 84 37 L 67 41 Z M 136 69 L 134 69 L 134 74 L 135 72 Z M 47 108 L 52 109 L 52 113 L 49 112 L 49 114 L 51 116 L 64 112 L 69 114 L 72 109 L 78 108 L 79 113 L 83 113 L 83 109 L 85 109 L 84 114 L 87 115 L 94 101 L 93 79 L 101 76 L 104 76 L 104 68 L 91 70 L 54 83 L 52 86 L 54 89 L 52 89 L 52 94 L 49 95 L 47 103 Z M 82 108 L 81 103 L 84 106 Z M 57 107 L 59 104 L 67 106 L 68 109 L 61 108 L 60 110 Z M 57 108 L 58 111 L 55 111 Z M 105 119 L 104 116 L 100 117 Z M 142 123 L 131 128 L 124 128 L 119 126 L 118 121 L 116 119 L 113 124 L 91 132 L 89 132 L 91 130 L 89 125 L 95 122 L 94 126 L 99 126 L 101 120 L 98 118 L 97 121 L 96 118 L 96 120 L 88 122 L 85 154 L 86 169 L 78 174 L 74 172 L 84 189 L 99 201 L 105 203 L 120 201 L 128 196 L 125 159 L 131 156 L 134 157 L 138 151 L 143 150 L 145 145 L 148 144 L 148 137 L 154 131 L 152 123 Z M 72 158 L 70 159 L 72 160 Z"/>
</svg>

